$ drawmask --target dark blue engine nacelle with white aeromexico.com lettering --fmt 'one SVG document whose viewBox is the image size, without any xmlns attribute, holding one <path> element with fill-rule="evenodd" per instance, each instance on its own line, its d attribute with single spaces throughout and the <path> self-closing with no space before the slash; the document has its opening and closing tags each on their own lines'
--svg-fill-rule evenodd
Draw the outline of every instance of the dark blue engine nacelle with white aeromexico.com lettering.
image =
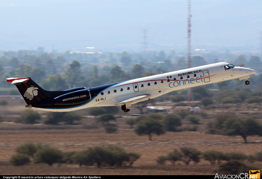
<svg viewBox="0 0 262 179">
<path fill-rule="evenodd" d="M 90 99 L 90 91 L 88 89 L 82 89 L 58 96 L 54 98 L 54 103 L 56 105 L 74 105 L 86 103 Z"/>
</svg>

